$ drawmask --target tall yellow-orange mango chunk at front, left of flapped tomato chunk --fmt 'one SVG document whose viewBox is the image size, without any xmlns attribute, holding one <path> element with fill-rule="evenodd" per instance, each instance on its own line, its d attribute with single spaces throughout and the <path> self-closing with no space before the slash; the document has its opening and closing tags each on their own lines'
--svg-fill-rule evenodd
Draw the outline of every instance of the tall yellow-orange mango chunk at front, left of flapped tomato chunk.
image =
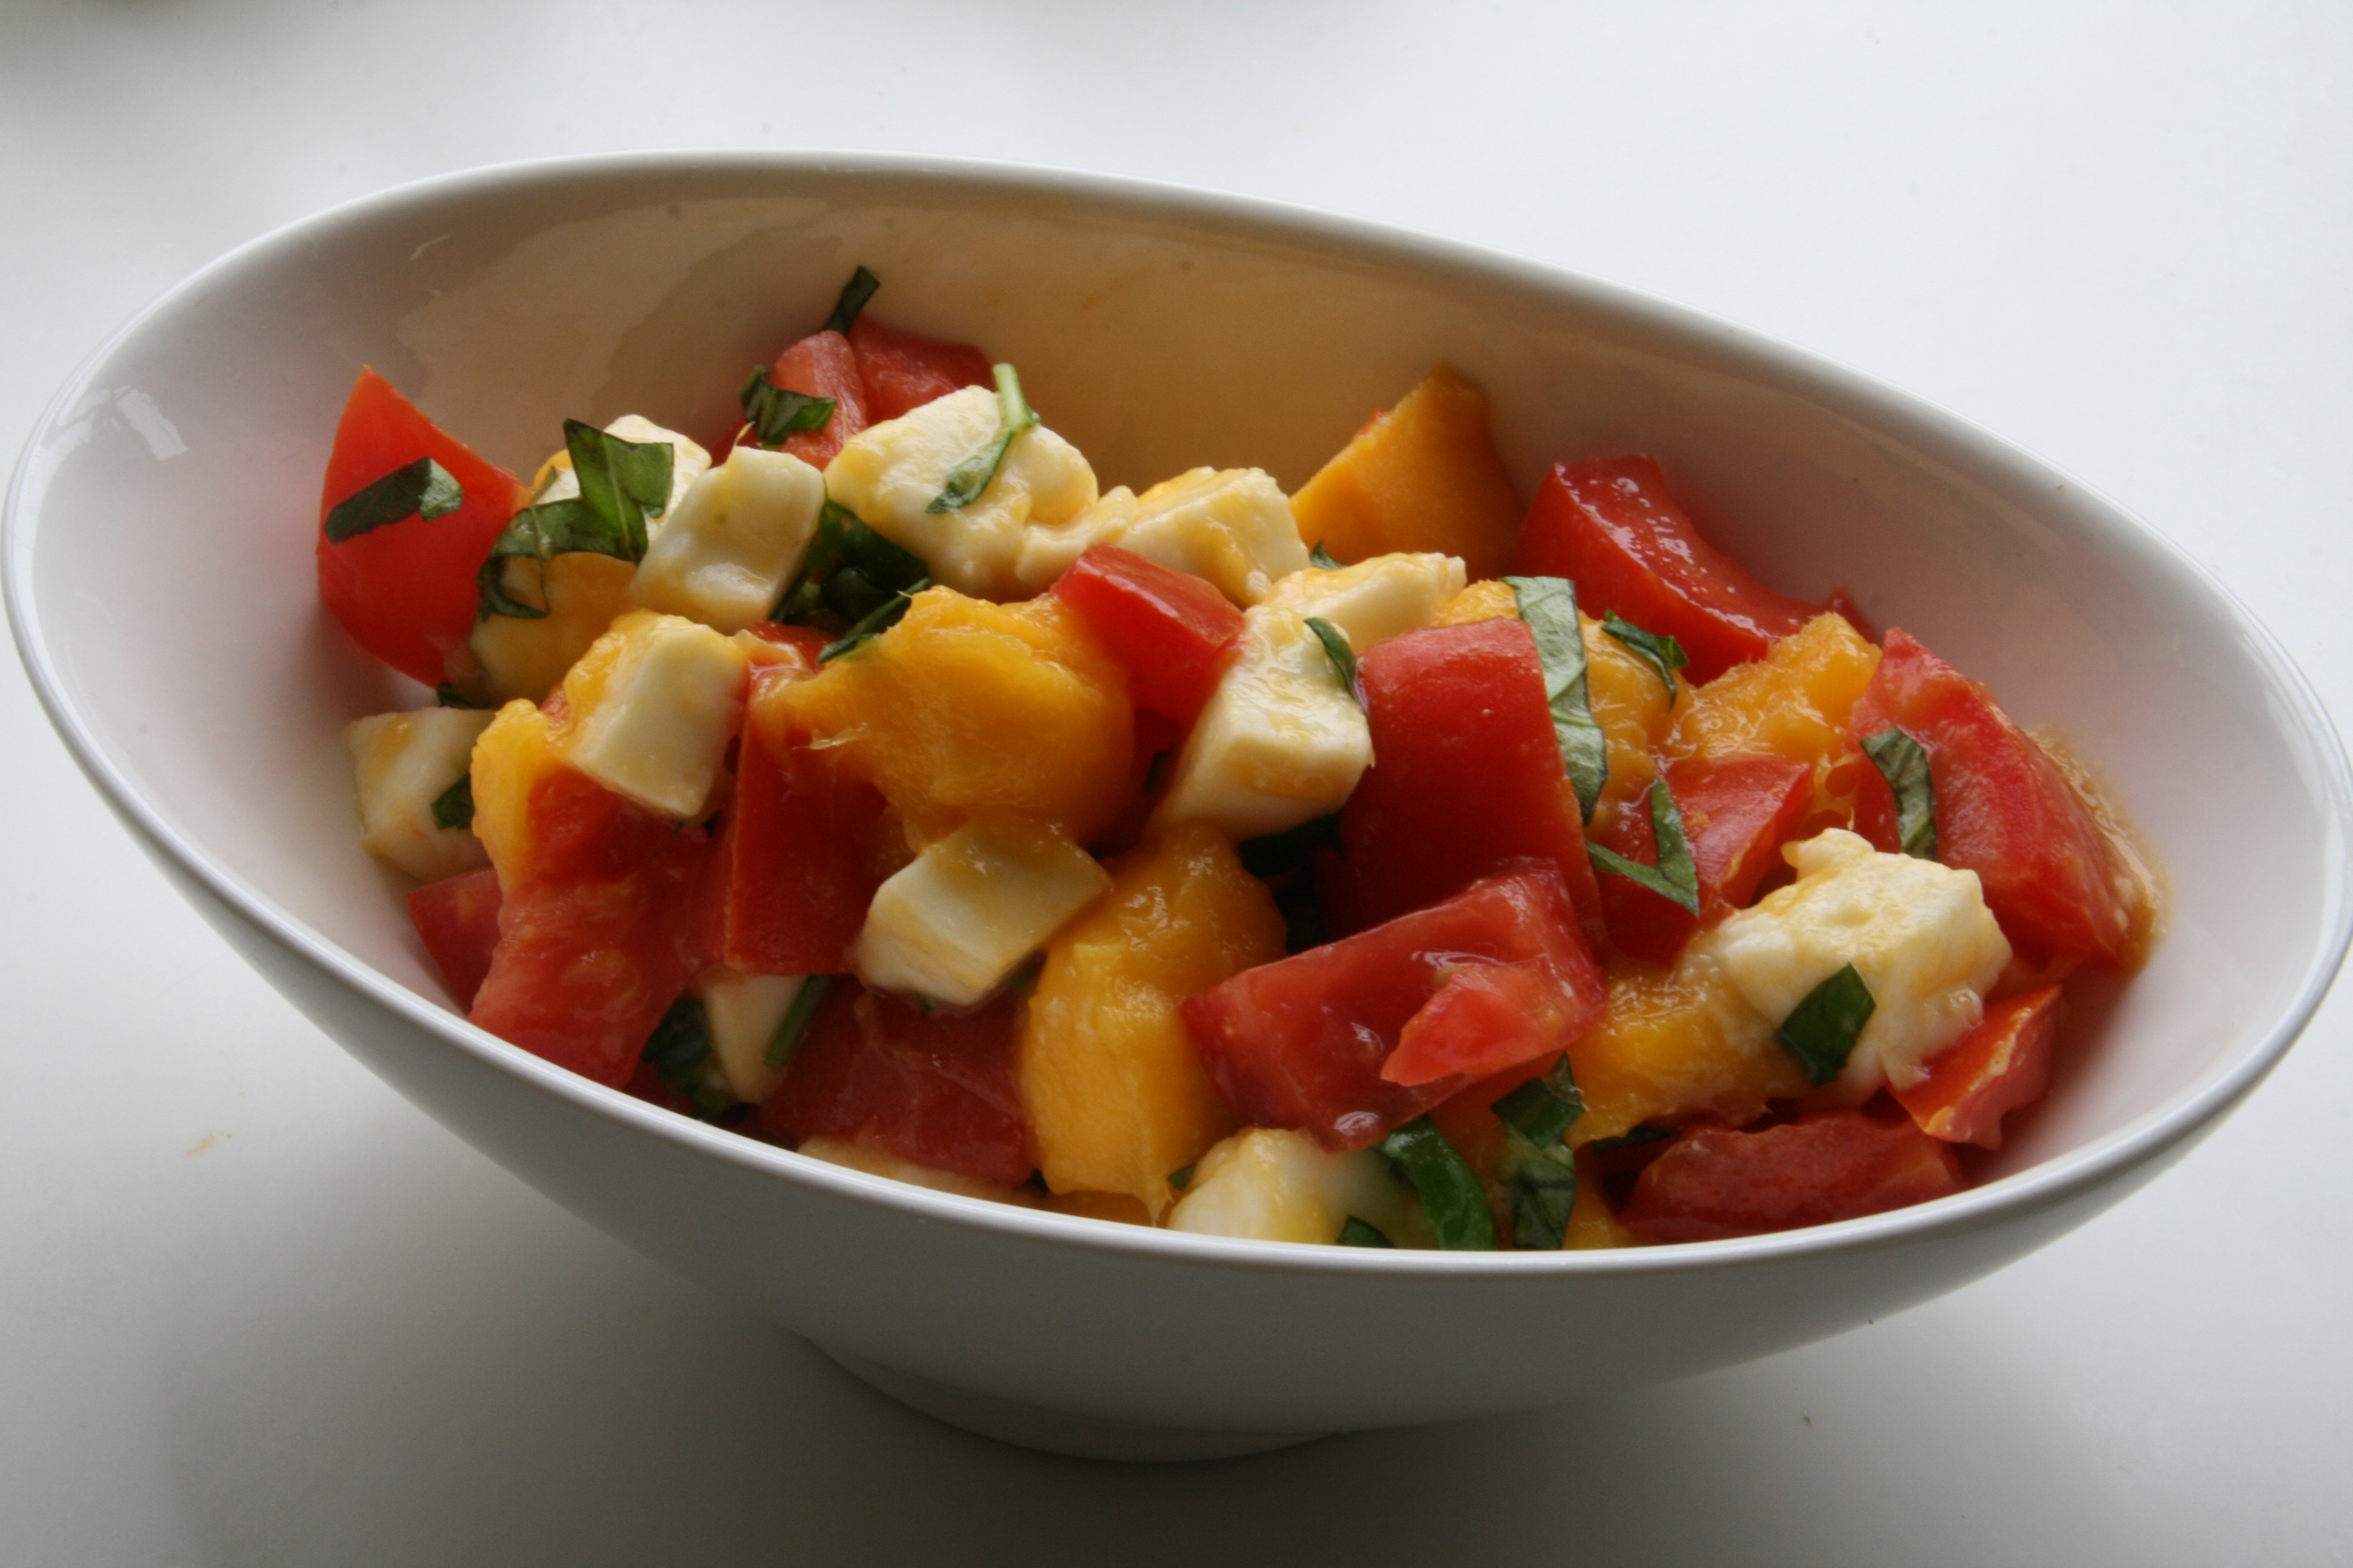
<svg viewBox="0 0 2353 1568">
<path fill-rule="evenodd" d="M 1169 1173 L 1235 1128 L 1176 1004 L 1282 957 L 1282 914 L 1226 835 L 1179 823 L 1113 867 L 1047 945 L 1019 1081 L 1054 1192 L 1129 1194 L 1158 1220 Z"/>
</svg>

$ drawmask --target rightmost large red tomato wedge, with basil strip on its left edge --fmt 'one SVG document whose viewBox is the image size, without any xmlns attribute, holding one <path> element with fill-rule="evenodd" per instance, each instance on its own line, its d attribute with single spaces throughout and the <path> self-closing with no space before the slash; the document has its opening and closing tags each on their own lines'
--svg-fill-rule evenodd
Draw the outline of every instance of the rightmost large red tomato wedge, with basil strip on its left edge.
<svg viewBox="0 0 2353 1568">
<path fill-rule="evenodd" d="M 2087 964 L 2129 954 L 2137 898 L 2125 858 L 1991 691 L 1889 630 L 1852 726 L 1857 741 L 1897 726 L 1927 750 L 1937 858 L 1977 872 L 2014 947 Z M 1897 849 L 1887 780 L 1868 759 L 1857 776 L 1854 830 L 1878 849 Z"/>
</svg>

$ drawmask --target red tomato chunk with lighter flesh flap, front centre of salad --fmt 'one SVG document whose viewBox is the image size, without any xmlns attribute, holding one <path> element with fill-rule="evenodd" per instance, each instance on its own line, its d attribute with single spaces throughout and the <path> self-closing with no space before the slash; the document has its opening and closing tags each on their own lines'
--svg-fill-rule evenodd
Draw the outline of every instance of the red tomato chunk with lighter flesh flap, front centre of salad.
<svg viewBox="0 0 2353 1568">
<path fill-rule="evenodd" d="M 1435 1039 L 1407 1058 L 1414 1072 L 1438 1051 L 1466 1070 L 1398 1084 L 1381 1067 L 1405 1027 L 1461 969 L 1541 961 L 1551 969 L 1555 1037 L 1511 1027 L 1508 1046 L 1482 1048 L 1468 1025 L 1480 1006 L 1459 997 L 1433 1020 Z M 1506 983 L 1508 985 L 1508 983 Z M 1468 987 L 1466 987 L 1468 994 Z M 1299 1126 L 1327 1150 L 1362 1150 L 1388 1128 L 1464 1088 L 1499 1051 L 1553 1056 L 1600 1018 L 1607 987 L 1586 950 L 1577 910 L 1548 863 L 1489 877 L 1454 898 L 1372 931 L 1245 969 L 1181 1004 L 1209 1081 L 1252 1126 Z M 1452 1025 L 1445 1011 L 1464 1006 Z"/>
</svg>

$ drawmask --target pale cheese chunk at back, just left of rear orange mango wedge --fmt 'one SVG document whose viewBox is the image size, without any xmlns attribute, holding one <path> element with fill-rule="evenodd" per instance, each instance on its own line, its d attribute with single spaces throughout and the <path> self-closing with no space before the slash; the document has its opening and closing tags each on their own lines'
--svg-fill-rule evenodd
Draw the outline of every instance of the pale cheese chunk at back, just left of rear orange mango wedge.
<svg viewBox="0 0 2353 1568">
<path fill-rule="evenodd" d="M 1045 592 L 1089 545 L 1191 571 L 1245 609 L 1308 567 L 1289 498 L 1257 468 L 1195 468 L 1141 496 L 1120 487 L 1061 527 L 1031 527 L 1021 585 Z"/>
</svg>

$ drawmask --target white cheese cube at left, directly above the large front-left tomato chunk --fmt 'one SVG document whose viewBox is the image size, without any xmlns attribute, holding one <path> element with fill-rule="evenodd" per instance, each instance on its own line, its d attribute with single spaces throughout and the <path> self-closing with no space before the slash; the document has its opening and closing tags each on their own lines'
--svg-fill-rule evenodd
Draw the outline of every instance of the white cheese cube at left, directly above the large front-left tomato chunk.
<svg viewBox="0 0 2353 1568">
<path fill-rule="evenodd" d="M 647 811 L 699 818 L 744 715 L 746 668 L 708 625 L 621 616 L 565 677 L 567 762 Z"/>
</svg>

